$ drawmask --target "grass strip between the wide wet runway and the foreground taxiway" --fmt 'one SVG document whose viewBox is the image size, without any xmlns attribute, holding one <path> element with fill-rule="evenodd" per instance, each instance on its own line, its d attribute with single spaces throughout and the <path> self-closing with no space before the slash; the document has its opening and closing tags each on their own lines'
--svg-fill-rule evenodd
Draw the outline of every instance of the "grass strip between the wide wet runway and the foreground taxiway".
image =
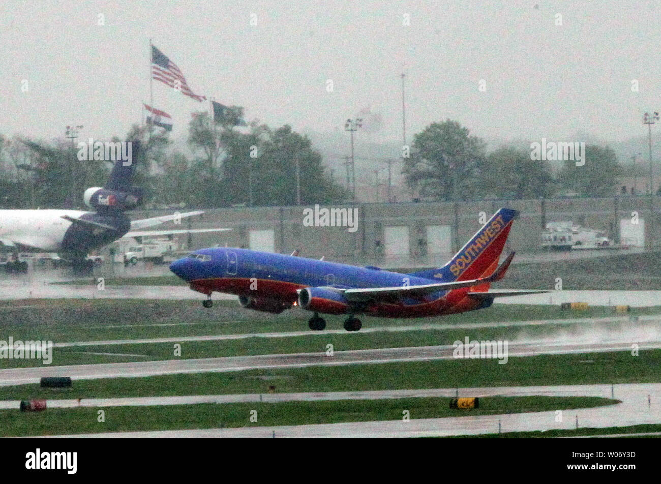
<svg viewBox="0 0 661 484">
<path fill-rule="evenodd" d="M 332 357 L 329 357 L 332 358 Z M 70 389 L 38 383 L 0 387 L 0 399 L 77 399 L 661 382 L 661 350 L 539 355 L 498 360 L 431 360 L 75 380 Z M 461 393 L 461 392 L 460 392 Z M 617 396 L 617 391 L 615 396 Z"/>
</svg>

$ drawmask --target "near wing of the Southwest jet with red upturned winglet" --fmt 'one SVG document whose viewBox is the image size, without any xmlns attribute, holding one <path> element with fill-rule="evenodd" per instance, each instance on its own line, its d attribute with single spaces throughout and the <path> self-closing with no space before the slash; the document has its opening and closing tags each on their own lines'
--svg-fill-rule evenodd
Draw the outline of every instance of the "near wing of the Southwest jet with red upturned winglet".
<svg viewBox="0 0 661 484">
<path fill-rule="evenodd" d="M 508 255 L 507 259 L 498 266 L 493 274 L 479 279 L 420 284 L 418 286 L 395 286 L 392 288 L 345 289 L 342 290 L 342 294 L 351 302 L 366 302 L 381 299 L 392 300 L 393 298 L 419 298 L 428 294 L 434 294 L 434 292 L 478 286 L 479 284 L 485 284 L 485 282 L 494 282 L 502 279 L 512 259 L 514 259 L 514 252 Z"/>
</svg>

